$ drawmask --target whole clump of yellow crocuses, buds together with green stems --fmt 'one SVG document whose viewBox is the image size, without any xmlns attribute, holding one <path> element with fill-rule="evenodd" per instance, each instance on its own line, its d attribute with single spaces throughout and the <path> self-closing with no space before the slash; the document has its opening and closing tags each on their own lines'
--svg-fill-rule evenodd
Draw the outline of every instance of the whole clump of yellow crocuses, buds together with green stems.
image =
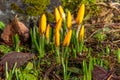
<svg viewBox="0 0 120 80">
<path fill-rule="evenodd" d="M 84 13 L 85 13 L 85 5 L 81 4 L 77 16 L 75 18 L 75 22 L 77 27 L 72 26 L 73 22 L 73 16 L 71 12 L 68 10 L 67 15 L 65 15 L 64 9 L 62 6 L 55 7 L 54 9 L 54 16 L 55 16 L 55 26 L 51 27 L 50 24 L 47 23 L 46 15 L 43 14 L 40 19 L 39 23 L 39 33 L 40 33 L 40 41 L 37 45 L 35 42 L 35 45 L 37 47 L 37 50 L 40 53 L 40 58 L 44 57 L 45 55 L 45 41 L 47 40 L 47 45 L 52 48 L 52 51 L 54 50 L 54 53 L 56 53 L 56 62 L 58 64 L 62 63 L 63 66 L 63 75 L 64 80 L 67 78 L 67 65 L 68 65 L 68 58 L 69 53 L 75 52 L 81 53 L 83 44 L 84 44 L 84 25 L 83 25 L 83 19 L 84 19 Z M 50 36 L 50 32 L 52 28 L 52 36 Z M 76 35 L 77 34 L 77 35 Z M 44 38 L 44 36 L 46 38 Z M 72 39 L 74 38 L 74 39 Z M 36 39 L 36 38 L 35 38 Z M 50 44 L 50 45 L 49 45 Z M 77 46 L 77 47 L 75 47 Z M 40 49 L 39 49 L 40 48 Z M 74 49 L 71 49 L 74 48 Z M 71 50 L 70 50 L 71 49 Z M 77 50 L 76 50 L 77 49 Z M 76 51 L 73 51 L 76 50 Z"/>
</svg>

